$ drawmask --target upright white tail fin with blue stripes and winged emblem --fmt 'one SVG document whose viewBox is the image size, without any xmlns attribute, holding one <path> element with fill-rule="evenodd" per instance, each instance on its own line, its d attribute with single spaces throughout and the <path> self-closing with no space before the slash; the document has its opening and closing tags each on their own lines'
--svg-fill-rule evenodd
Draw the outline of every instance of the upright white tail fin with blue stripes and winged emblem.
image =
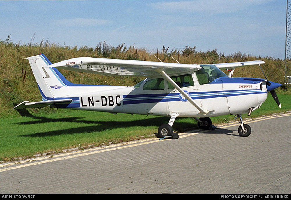
<svg viewBox="0 0 291 200">
<path fill-rule="evenodd" d="M 40 54 L 28 57 L 27 59 L 43 101 L 54 100 L 56 97 L 68 97 L 70 95 L 67 85 L 72 83 L 66 80 L 56 68 L 44 68 L 52 64 L 45 55 Z"/>
</svg>

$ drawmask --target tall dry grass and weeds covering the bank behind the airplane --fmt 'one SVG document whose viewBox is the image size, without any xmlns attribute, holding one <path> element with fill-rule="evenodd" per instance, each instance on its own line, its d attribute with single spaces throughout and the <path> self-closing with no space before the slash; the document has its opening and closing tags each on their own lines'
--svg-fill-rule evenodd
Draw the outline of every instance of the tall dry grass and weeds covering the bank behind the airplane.
<svg viewBox="0 0 291 200">
<path fill-rule="evenodd" d="M 149 52 L 145 48 L 136 48 L 134 44 L 126 47 L 120 44 L 112 46 L 106 41 L 100 42 L 96 47 L 71 47 L 50 43 L 48 40 L 41 40 L 39 43 L 29 44 L 13 43 L 10 36 L 6 40 L 0 40 L 0 117 L 18 116 L 12 108 L 24 100 L 40 101 L 33 73 L 26 59 L 29 56 L 44 53 L 52 62 L 56 63 L 75 57 L 97 57 L 114 58 L 127 60 L 158 61 L 155 56 L 163 62 L 176 62 L 187 64 L 211 64 L 228 63 L 251 60 L 264 60 L 262 65 L 264 72 L 270 81 L 284 83 L 284 60 L 266 57 L 256 57 L 240 52 L 230 55 L 218 53 L 216 49 L 207 52 L 198 52 L 196 47 L 186 46 L 184 49 L 171 49 L 163 46 L 156 52 Z M 138 77 L 110 77 L 97 74 L 86 74 L 61 70 L 61 73 L 72 83 L 99 84 L 99 85 L 135 85 L 142 78 Z M 236 77 L 257 77 L 264 78 L 259 67 L 242 67 L 235 69 Z M 34 110 L 34 112 L 52 112 L 52 109 Z"/>
</svg>

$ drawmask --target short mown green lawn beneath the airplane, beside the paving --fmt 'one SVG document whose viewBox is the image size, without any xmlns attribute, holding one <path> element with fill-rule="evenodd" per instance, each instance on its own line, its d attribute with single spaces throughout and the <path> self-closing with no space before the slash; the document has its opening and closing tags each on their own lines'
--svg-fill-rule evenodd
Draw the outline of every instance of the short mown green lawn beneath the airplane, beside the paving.
<svg viewBox="0 0 291 200">
<path fill-rule="evenodd" d="M 290 92 L 289 92 L 290 93 Z M 278 97 L 282 108 L 278 108 L 271 95 L 261 108 L 253 111 L 251 117 L 291 110 L 290 94 L 280 92 Z M 54 109 L 54 108 L 51 108 Z M 56 110 L 56 109 L 55 109 Z M 0 160 L 31 158 L 35 154 L 50 151 L 61 152 L 73 147 L 99 146 L 126 142 L 141 137 L 152 137 L 160 124 L 168 123 L 168 117 L 79 111 L 56 110 L 56 113 L 30 114 L 24 117 L 0 120 Z M 248 116 L 243 115 L 243 118 Z M 233 120 L 232 115 L 212 117 L 213 124 Z M 192 118 L 177 118 L 173 128 L 184 131 L 198 127 Z"/>
</svg>

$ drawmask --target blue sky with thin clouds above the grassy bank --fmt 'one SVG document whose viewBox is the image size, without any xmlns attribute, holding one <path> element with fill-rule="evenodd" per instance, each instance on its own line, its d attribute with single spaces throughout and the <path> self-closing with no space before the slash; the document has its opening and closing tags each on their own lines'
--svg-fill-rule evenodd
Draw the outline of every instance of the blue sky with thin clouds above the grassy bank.
<svg viewBox="0 0 291 200">
<path fill-rule="evenodd" d="M 285 0 L 0 1 L 0 39 L 285 58 Z M 28 55 L 31 56 L 31 55 Z"/>
</svg>

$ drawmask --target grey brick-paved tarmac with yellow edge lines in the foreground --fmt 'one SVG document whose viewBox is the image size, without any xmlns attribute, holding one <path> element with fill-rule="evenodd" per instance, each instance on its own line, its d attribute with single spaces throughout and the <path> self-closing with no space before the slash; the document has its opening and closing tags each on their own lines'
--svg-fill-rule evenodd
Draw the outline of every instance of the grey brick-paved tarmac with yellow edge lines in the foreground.
<svg viewBox="0 0 291 200">
<path fill-rule="evenodd" d="M 0 193 L 290 193 L 291 114 L 0 165 Z M 10 164 L 10 165 L 8 165 Z"/>
</svg>

